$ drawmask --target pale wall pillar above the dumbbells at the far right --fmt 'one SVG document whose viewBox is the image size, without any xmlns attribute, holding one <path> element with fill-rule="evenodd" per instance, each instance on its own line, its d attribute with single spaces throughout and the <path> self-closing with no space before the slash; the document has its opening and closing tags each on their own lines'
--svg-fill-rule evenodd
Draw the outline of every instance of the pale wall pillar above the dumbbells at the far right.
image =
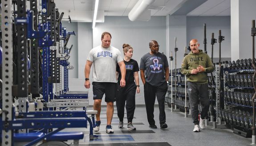
<svg viewBox="0 0 256 146">
<path fill-rule="evenodd" d="M 231 0 L 232 60 L 252 58 L 252 20 L 256 20 L 256 0 Z M 237 17 L 239 19 L 237 19 Z M 237 36 L 239 35 L 239 36 Z"/>
</svg>

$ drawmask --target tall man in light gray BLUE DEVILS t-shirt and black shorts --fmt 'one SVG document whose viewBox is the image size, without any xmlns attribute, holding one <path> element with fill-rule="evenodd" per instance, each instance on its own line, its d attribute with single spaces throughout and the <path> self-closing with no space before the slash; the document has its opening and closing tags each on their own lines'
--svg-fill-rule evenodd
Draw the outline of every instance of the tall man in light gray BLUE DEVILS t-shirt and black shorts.
<svg viewBox="0 0 256 146">
<path fill-rule="evenodd" d="M 85 64 L 85 88 L 90 88 L 89 74 L 93 64 L 93 109 L 98 111 L 96 114 L 96 127 L 93 131 L 98 132 L 100 129 L 100 113 L 102 97 L 105 94 L 105 102 L 107 103 L 107 133 L 114 133 L 111 121 L 114 113 L 114 101 L 117 92 L 116 64 L 118 63 L 122 79 L 120 86 L 125 87 L 126 67 L 123 62 L 121 52 L 110 46 L 111 34 L 109 32 L 102 33 L 102 45 L 94 47 L 87 57 Z"/>
</svg>

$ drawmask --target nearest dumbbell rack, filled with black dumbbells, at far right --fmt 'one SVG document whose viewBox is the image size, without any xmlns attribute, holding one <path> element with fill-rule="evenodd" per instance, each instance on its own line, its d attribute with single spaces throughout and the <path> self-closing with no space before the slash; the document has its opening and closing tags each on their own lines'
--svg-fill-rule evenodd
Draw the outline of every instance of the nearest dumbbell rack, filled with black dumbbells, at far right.
<svg viewBox="0 0 256 146">
<path fill-rule="evenodd" d="M 244 61 L 245 60 L 245 61 Z M 243 62 L 247 62 L 243 63 Z M 251 59 L 241 59 L 229 63 L 224 69 L 225 110 L 220 111 L 221 119 L 233 129 L 235 134 L 252 137 L 252 85 Z"/>
</svg>

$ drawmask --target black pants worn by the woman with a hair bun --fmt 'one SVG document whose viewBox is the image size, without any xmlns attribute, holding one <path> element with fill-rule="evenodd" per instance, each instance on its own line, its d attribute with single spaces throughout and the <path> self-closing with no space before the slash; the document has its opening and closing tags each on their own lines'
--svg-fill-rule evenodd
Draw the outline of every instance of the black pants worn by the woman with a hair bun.
<svg viewBox="0 0 256 146">
<path fill-rule="evenodd" d="M 135 93 L 136 84 L 134 82 L 126 83 L 125 87 L 120 87 L 120 82 L 118 82 L 118 92 L 116 98 L 116 105 L 118 110 L 119 121 L 123 121 L 124 118 L 124 108 L 126 105 L 126 113 L 128 123 L 132 122 L 135 110 Z"/>
</svg>

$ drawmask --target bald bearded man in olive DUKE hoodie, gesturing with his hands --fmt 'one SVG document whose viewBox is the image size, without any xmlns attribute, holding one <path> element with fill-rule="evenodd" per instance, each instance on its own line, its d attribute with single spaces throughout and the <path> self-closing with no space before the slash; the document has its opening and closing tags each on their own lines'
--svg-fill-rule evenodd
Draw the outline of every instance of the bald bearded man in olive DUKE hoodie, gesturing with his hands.
<svg viewBox="0 0 256 146">
<path fill-rule="evenodd" d="M 205 118 L 209 110 L 208 80 L 207 73 L 214 70 L 211 58 L 199 50 L 197 39 L 190 41 L 191 52 L 186 55 L 182 61 L 181 73 L 187 75 L 188 96 L 191 107 L 192 119 L 195 124 L 194 132 L 199 132 L 205 128 Z M 198 121 L 199 97 L 202 104 L 200 121 Z M 200 122 L 200 123 L 199 123 Z"/>
</svg>

